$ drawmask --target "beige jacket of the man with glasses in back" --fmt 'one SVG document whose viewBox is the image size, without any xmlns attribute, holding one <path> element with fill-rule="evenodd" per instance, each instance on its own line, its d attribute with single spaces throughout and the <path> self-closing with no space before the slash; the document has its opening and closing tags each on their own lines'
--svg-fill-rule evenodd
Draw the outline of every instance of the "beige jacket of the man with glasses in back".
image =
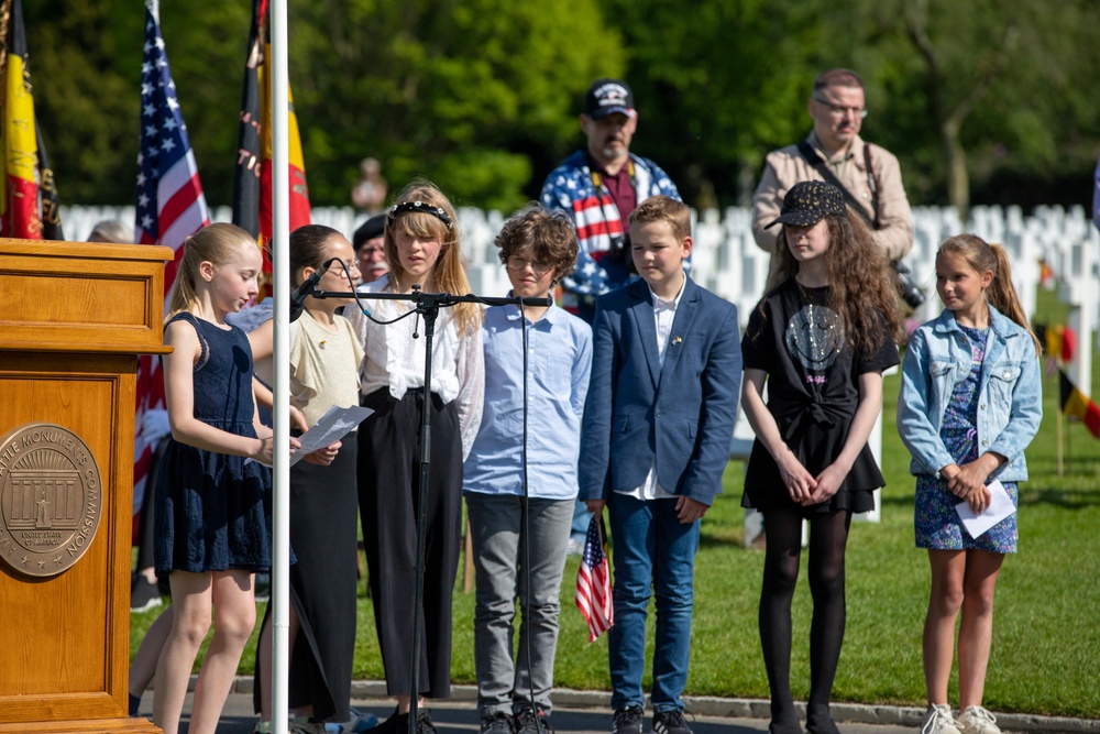
<svg viewBox="0 0 1100 734">
<path fill-rule="evenodd" d="M 812 133 L 807 141 L 824 160 L 825 156 Z M 864 141 L 858 135 L 846 152 L 838 153 L 833 160 L 836 162 L 844 156 L 848 156 L 849 160 L 837 174 L 837 178 L 856 200 L 865 202 L 867 215 L 873 219 L 871 189 L 867 182 L 867 165 L 864 160 Z M 901 183 L 901 166 L 898 165 L 898 158 L 893 154 L 871 143 L 871 167 L 875 169 L 875 180 L 879 187 L 880 226 L 880 229 L 871 231 L 871 237 L 882 247 L 891 262 L 901 260 L 913 248 L 912 211 Z M 769 229 L 765 229 L 765 226 L 779 216 L 787 191 L 799 182 L 821 179 L 821 174 L 803 157 L 798 145 L 788 145 L 768 154 L 760 184 L 752 195 L 752 237 L 761 250 L 776 251 L 780 224 Z"/>
</svg>

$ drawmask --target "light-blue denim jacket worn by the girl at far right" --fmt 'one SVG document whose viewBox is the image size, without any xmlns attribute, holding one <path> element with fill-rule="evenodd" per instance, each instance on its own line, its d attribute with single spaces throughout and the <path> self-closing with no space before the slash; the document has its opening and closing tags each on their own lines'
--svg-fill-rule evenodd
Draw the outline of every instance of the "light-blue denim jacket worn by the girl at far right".
<svg viewBox="0 0 1100 734">
<path fill-rule="evenodd" d="M 994 451 L 1008 461 L 989 479 L 1016 482 L 1027 479 L 1024 449 L 1038 431 L 1043 417 L 1043 383 L 1031 335 L 989 307 L 991 336 L 986 346 L 978 395 L 978 452 Z M 913 474 L 939 475 L 958 463 L 947 451 L 939 428 L 955 385 L 974 364 L 970 347 L 944 310 L 919 328 L 909 341 L 902 363 L 898 399 L 898 431 L 913 461 Z"/>
</svg>

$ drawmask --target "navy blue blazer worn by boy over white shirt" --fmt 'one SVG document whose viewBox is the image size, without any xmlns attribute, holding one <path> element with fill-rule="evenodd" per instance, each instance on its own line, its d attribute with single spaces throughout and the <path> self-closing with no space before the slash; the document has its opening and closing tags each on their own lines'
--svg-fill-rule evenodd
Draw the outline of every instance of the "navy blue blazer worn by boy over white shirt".
<svg viewBox="0 0 1100 734">
<path fill-rule="evenodd" d="M 689 277 L 662 368 L 651 298 L 639 280 L 596 300 L 579 496 L 635 490 L 656 457 L 667 492 L 710 505 L 722 492 L 740 395 L 737 307 Z"/>
</svg>

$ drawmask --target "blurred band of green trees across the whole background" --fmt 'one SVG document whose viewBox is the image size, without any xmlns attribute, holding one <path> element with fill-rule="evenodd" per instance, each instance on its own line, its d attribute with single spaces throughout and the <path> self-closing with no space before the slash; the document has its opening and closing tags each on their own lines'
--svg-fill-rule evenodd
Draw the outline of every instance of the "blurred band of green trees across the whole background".
<svg viewBox="0 0 1100 734">
<path fill-rule="evenodd" d="M 161 25 L 209 201 L 227 204 L 251 0 L 165 0 Z M 24 3 L 36 113 L 64 204 L 129 204 L 136 0 Z M 509 210 L 583 144 L 588 83 L 622 76 L 632 145 L 690 204 L 746 200 L 810 129 L 813 77 L 855 68 L 864 135 L 914 204 L 1086 204 L 1100 153 L 1093 0 L 289 0 L 290 81 L 315 206 L 364 156 L 460 205 Z"/>
</svg>

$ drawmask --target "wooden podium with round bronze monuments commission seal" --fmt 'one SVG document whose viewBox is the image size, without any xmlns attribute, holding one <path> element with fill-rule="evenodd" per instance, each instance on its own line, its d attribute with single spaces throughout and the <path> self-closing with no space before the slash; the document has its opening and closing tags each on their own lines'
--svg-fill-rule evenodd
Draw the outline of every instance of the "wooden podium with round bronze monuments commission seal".
<svg viewBox="0 0 1100 734">
<path fill-rule="evenodd" d="M 138 355 L 168 248 L 0 239 L 0 733 L 128 716 Z"/>
</svg>

